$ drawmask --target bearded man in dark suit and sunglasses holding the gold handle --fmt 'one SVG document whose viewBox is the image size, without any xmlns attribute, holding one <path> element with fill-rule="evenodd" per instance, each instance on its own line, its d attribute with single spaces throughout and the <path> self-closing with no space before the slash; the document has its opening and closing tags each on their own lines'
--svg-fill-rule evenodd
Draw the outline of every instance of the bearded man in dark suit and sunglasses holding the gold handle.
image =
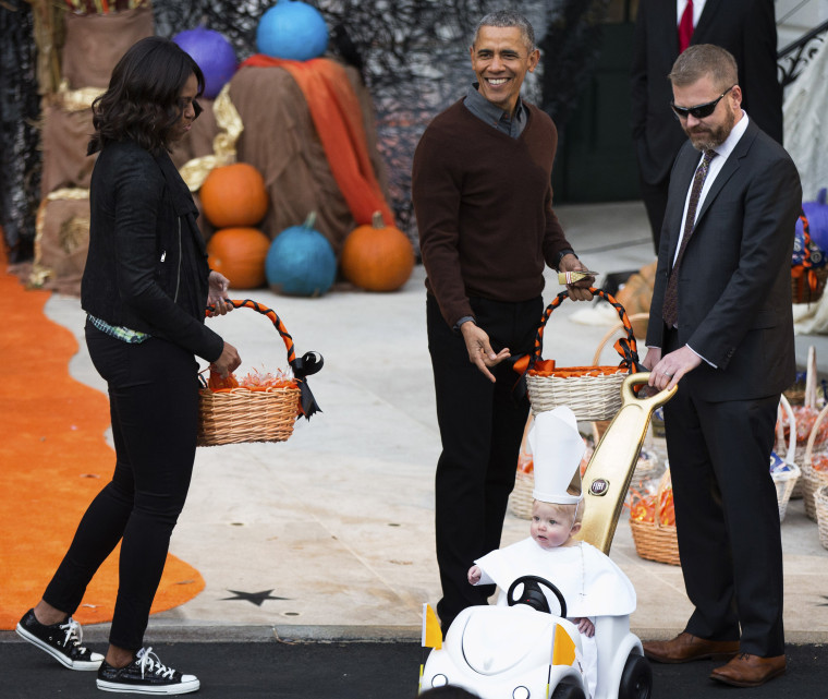
<svg viewBox="0 0 828 699">
<path fill-rule="evenodd" d="M 679 384 L 665 427 L 695 608 L 684 632 L 644 652 L 668 663 L 732 658 L 711 677 L 753 687 L 786 668 L 768 463 L 795 372 L 790 266 L 802 188 L 789 155 L 742 110 L 728 51 L 690 47 L 670 81 L 690 141 L 670 176 L 644 365 L 653 386 Z"/>
</svg>

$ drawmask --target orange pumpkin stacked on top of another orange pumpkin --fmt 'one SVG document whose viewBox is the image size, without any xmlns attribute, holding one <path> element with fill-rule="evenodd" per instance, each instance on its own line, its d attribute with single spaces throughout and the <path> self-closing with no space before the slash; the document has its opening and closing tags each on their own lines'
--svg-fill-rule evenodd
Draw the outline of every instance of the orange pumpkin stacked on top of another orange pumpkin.
<svg viewBox="0 0 828 699">
<path fill-rule="evenodd" d="M 216 228 L 255 226 L 267 214 L 265 179 L 246 162 L 210 171 L 202 184 L 202 207 Z"/>
</svg>

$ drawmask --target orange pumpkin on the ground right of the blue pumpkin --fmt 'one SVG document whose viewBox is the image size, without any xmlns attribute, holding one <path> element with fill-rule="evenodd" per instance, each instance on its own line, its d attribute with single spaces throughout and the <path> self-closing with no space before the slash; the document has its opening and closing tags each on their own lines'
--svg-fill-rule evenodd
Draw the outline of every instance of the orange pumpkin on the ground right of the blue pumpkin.
<svg viewBox="0 0 828 699">
<path fill-rule="evenodd" d="M 376 212 L 370 226 L 358 226 L 342 245 L 340 268 L 345 279 L 366 291 L 394 291 L 414 269 L 414 250 L 399 228 L 386 226 Z"/>
</svg>

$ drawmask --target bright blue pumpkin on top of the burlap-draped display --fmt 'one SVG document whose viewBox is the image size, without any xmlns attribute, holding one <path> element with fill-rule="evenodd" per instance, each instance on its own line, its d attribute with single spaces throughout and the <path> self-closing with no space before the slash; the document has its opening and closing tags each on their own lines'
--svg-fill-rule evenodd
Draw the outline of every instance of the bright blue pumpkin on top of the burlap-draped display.
<svg viewBox="0 0 828 699">
<path fill-rule="evenodd" d="M 256 48 L 272 58 L 307 61 L 328 48 L 328 26 L 316 8 L 301 0 L 278 0 L 259 20 Z"/>
</svg>

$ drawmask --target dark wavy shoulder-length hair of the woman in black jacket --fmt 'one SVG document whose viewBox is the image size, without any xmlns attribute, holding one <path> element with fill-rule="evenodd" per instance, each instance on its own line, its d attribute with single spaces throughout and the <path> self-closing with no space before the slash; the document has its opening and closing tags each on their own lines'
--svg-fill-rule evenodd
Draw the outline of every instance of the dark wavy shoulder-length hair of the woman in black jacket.
<svg viewBox="0 0 828 699">
<path fill-rule="evenodd" d="M 181 92 L 191 75 L 204 92 L 204 74 L 178 44 L 149 36 L 133 44 L 112 70 L 107 92 L 92 106 L 95 133 L 87 155 L 109 141 L 135 141 L 157 152 L 170 148 L 170 132 L 181 118 Z M 200 112 L 194 104 L 196 117 Z"/>
</svg>

